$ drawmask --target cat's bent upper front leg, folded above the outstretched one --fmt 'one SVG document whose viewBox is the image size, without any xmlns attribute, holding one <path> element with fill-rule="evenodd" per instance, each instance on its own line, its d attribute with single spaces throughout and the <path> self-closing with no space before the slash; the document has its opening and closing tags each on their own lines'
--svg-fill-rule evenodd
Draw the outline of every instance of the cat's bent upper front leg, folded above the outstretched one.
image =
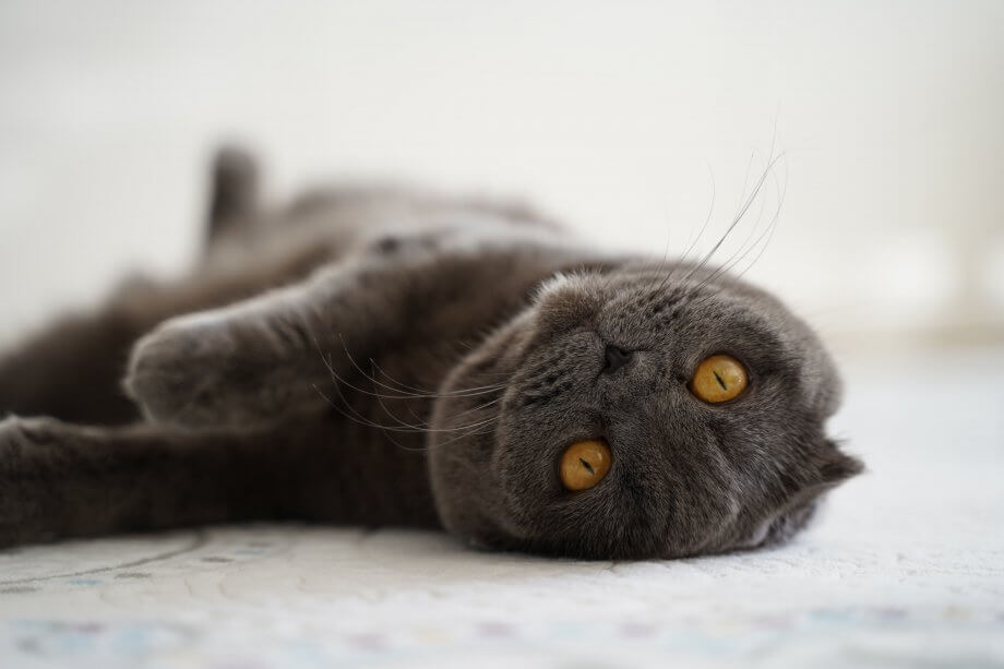
<svg viewBox="0 0 1004 669">
<path fill-rule="evenodd" d="M 124 385 L 154 421 L 242 427 L 326 405 L 398 336 L 416 273 L 368 256 L 223 309 L 171 319 L 133 349 Z M 414 304 L 413 304 L 414 307 Z"/>
</svg>

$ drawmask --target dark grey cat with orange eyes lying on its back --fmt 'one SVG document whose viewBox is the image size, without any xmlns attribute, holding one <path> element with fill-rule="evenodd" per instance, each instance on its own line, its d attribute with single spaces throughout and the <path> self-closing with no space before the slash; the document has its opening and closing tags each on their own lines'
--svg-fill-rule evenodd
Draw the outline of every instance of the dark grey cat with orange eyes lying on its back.
<svg viewBox="0 0 1004 669">
<path fill-rule="evenodd" d="M 707 256 L 404 187 L 268 207 L 258 174 L 218 154 L 187 276 L 0 358 L 0 546 L 299 519 L 681 558 L 782 542 L 862 469 L 818 337 Z"/>
</svg>

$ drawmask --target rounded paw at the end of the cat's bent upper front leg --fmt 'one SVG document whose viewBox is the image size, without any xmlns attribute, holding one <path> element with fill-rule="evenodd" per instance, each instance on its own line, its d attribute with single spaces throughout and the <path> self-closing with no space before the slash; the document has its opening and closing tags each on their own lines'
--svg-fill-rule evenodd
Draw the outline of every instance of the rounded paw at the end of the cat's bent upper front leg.
<svg viewBox="0 0 1004 669">
<path fill-rule="evenodd" d="M 216 420 L 228 358 L 217 326 L 168 321 L 133 347 L 123 385 L 143 414 L 164 423 L 201 426 Z"/>
</svg>

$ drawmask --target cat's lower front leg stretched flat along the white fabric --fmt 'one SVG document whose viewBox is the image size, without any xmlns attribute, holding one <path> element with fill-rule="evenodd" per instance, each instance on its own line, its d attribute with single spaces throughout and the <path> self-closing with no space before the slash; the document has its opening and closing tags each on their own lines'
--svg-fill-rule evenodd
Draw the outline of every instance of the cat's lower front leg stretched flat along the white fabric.
<svg viewBox="0 0 1004 669">
<path fill-rule="evenodd" d="M 260 431 L 0 420 L 0 547 L 283 518 L 434 526 L 423 453 L 331 417 Z"/>
</svg>

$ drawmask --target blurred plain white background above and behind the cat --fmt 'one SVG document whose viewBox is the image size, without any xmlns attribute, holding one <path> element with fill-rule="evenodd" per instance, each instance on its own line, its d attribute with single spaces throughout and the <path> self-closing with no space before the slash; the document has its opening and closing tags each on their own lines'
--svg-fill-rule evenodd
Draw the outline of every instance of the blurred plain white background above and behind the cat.
<svg viewBox="0 0 1004 669">
<path fill-rule="evenodd" d="M 276 198 L 339 176 L 514 194 L 659 255 L 713 188 L 714 243 L 776 140 L 786 196 L 748 277 L 838 348 L 1004 342 L 996 0 L 3 0 L 4 334 L 181 271 L 225 140 Z"/>
</svg>

